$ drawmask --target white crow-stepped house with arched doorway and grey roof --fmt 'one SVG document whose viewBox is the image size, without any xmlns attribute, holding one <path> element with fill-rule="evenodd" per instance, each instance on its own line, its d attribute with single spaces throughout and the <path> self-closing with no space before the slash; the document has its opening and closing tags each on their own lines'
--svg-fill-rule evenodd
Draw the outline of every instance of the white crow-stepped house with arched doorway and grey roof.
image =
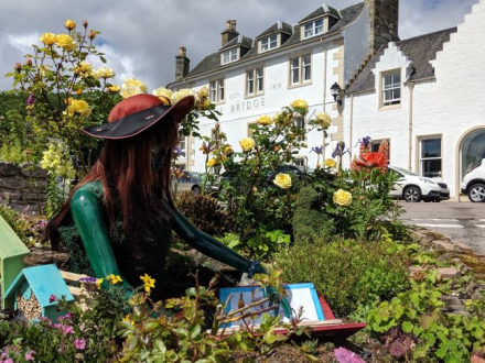
<svg viewBox="0 0 485 363">
<path fill-rule="evenodd" d="M 344 141 L 390 143 L 390 164 L 442 177 L 451 198 L 485 157 L 485 0 L 457 28 L 391 42 L 346 90 Z"/>
</svg>

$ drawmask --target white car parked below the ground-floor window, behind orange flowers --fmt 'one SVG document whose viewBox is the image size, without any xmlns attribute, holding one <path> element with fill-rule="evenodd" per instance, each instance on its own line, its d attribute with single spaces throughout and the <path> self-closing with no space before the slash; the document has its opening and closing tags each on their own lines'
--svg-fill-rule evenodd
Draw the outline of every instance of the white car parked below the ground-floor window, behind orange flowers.
<svg viewBox="0 0 485 363">
<path fill-rule="evenodd" d="M 389 166 L 389 170 L 400 176 L 390 191 L 394 198 L 411 202 L 450 199 L 450 189 L 445 183 L 420 176 L 402 167 Z"/>
</svg>

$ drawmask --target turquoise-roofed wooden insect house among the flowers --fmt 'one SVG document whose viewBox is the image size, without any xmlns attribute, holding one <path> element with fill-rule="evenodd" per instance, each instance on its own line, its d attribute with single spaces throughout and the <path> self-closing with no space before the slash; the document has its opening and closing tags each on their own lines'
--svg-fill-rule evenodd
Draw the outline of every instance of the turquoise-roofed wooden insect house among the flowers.
<svg viewBox="0 0 485 363">
<path fill-rule="evenodd" d="M 55 296 L 66 301 L 74 300 L 61 272 L 55 265 L 42 265 L 23 268 L 6 292 L 6 298 L 13 299 L 13 309 L 25 320 L 47 317 L 56 321 L 66 311 L 57 311 L 58 307 L 51 299 Z"/>
</svg>

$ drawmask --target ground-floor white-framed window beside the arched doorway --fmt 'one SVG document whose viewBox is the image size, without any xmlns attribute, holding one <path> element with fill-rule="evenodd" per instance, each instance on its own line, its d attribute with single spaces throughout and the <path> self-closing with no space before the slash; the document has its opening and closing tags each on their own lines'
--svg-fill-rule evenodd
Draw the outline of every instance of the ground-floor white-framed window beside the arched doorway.
<svg viewBox="0 0 485 363">
<path fill-rule="evenodd" d="M 419 141 L 419 174 L 430 178 L 441 177 L 441 136 L 421 138 Z"/>
</svg>

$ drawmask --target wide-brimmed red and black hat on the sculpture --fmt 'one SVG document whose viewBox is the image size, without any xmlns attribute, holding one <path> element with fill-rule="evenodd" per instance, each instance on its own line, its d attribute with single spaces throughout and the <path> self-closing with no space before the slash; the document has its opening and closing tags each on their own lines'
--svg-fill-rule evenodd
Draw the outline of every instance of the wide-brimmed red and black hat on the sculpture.
<svg viewBox="0 0 485 363">
<path fill-rule="evenodd" d="M 112 108 L 109 113 L 109 123 L 89 127 L 83 129 L 83 132 L 97 139 L 128 139 L 138 135 L 169 116 L 176 122 L 182 121 L 194 103 L 194 96 L 185 96 L 176 103 L 165 106 L 157 96 L 134 95 Z"/>
</svg>

